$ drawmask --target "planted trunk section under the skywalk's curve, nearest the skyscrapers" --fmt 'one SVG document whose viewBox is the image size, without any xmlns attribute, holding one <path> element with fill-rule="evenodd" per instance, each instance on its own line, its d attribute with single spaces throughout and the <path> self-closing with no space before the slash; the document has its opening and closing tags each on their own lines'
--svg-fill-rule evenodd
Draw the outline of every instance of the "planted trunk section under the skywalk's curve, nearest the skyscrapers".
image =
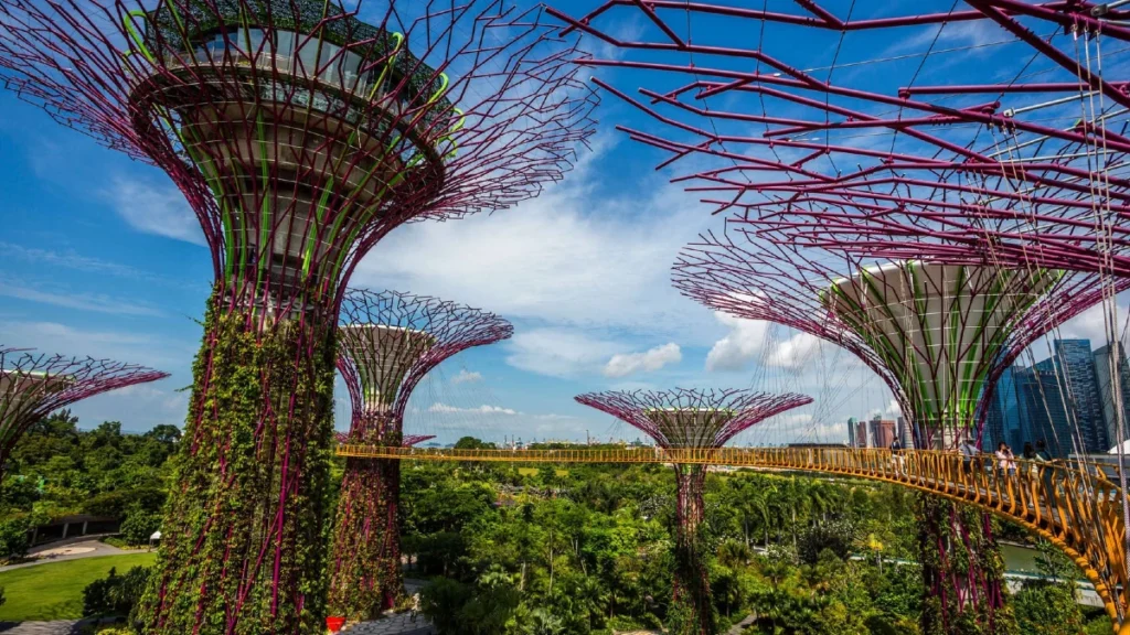
<svg viewBox="0 0 1130 635">
<path fill-rule="evenodd" d="M 990 516 L 928 494 L 916 496 L 915 507 L 923 635 L 1016 635 Z"/>
</svg>

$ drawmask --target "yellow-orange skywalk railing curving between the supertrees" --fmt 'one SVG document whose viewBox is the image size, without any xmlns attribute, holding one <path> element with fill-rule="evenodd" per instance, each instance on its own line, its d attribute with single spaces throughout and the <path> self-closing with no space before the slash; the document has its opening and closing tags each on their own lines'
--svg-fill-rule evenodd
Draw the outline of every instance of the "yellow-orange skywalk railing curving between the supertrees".
<svg viewBox="0 0 1130 635">
<path fill-rule="evenodd" d="M 991 454 L 850 447 L 616 447 L 462 450 L 339 445 L 353 459 L 516 463 L 692 463 L 801 470 L 881 480 L 975 505 L 1050 540 L 1095 585 L 1121 633 L 1130 635 L 1122 494 L 1101 469 L 1079 462 Z"/>
</svg>

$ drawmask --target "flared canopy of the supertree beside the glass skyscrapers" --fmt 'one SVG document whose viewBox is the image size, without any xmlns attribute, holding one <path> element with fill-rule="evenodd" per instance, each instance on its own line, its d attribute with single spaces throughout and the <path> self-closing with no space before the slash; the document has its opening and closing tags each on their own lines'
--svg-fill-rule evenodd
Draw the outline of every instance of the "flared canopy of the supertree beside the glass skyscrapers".
<svg viewBox="0 0 1130 635">
<path fill-rule="evenodd" d="M 707 233 L 684 247 L 672 270 L 675 287 L 715 311 L 784 324 L 849 350 L 890 388 L 928 447 L 956 446 L 971 432 L 980 438 L 1001 373 L 1038 338 L 1101 302 L 1106 289 L 1095 273 L 1027 268 L 948 273 L 946 286 L 903 273 L 892 284 L 864 270 L 905 262 L 790 245 L 772 230 L 747 228 L 731 220 L 722 234 Z M 844 289 L 863 306 L 829 301 Z M 883 318 L 883 298 L 903 294 L 910 297 L 898 298 L 901 314 Z M 994 311 L 999 318 L 991 318 Z M 923 332 L 935 334 L 923 339 Z M 931 337 L 956 348 L 939 355 Z M 923 383 L 945 388 L 931 394 Z"/>
</svg>

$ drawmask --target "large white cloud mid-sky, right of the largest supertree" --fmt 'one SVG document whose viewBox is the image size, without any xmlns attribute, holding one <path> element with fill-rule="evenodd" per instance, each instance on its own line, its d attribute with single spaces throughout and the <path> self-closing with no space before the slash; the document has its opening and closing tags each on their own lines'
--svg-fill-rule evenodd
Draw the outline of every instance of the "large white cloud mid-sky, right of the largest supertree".
<svg viewBox="0 0 1130 635">
<path fill-rule="evenodd" d="M 669 270 L 714 219 L 658 179 L 643 199 L 591 189 L 608 181 L 581 167 L 516 209 L 405 226 L 365 256 L 350 284 L 562 327 L 702 338 L 707 313 L 671 288 Z"/>
</svg>

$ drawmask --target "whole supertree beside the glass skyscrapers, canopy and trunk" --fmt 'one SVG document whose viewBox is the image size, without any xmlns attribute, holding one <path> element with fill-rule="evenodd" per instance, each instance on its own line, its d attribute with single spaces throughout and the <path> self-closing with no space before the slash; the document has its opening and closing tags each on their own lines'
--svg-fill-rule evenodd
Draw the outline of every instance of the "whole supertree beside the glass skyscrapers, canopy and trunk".
<svg viewBox="0 0 1130 635">
<path fill-rule="evenodd" d="M 746 223 L 704 235 L 680 253 L 675 286 L 716 311 L 851 351 L 890 388 L 925 449 L 980 442 L 1001 373 L 1104 293 L 1103 278 L 1089 273 L 866 261 L 771 238 Z M 988 516 L 925 495 L 919 504 L 924 632 L 958 633 L 971 623 L 982 633 L 1010 632 Z"/>
</svg>

